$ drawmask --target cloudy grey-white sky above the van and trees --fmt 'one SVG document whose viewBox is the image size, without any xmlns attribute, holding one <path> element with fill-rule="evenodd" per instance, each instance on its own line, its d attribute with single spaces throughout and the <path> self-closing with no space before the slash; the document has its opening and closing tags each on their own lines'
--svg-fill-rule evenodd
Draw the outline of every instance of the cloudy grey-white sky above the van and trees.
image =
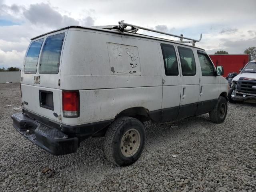
<svg viewBox="0 0 256 192">
<path fill-rule="evenodd" d="M 208 54 L 256 46 L 256 0 L 0 0 L 0 68 L 22 67 L 30 38 L 118 21 L 202 40 Z M 139 30 L 139 33 L 174 39 Z"/>
</svg>

